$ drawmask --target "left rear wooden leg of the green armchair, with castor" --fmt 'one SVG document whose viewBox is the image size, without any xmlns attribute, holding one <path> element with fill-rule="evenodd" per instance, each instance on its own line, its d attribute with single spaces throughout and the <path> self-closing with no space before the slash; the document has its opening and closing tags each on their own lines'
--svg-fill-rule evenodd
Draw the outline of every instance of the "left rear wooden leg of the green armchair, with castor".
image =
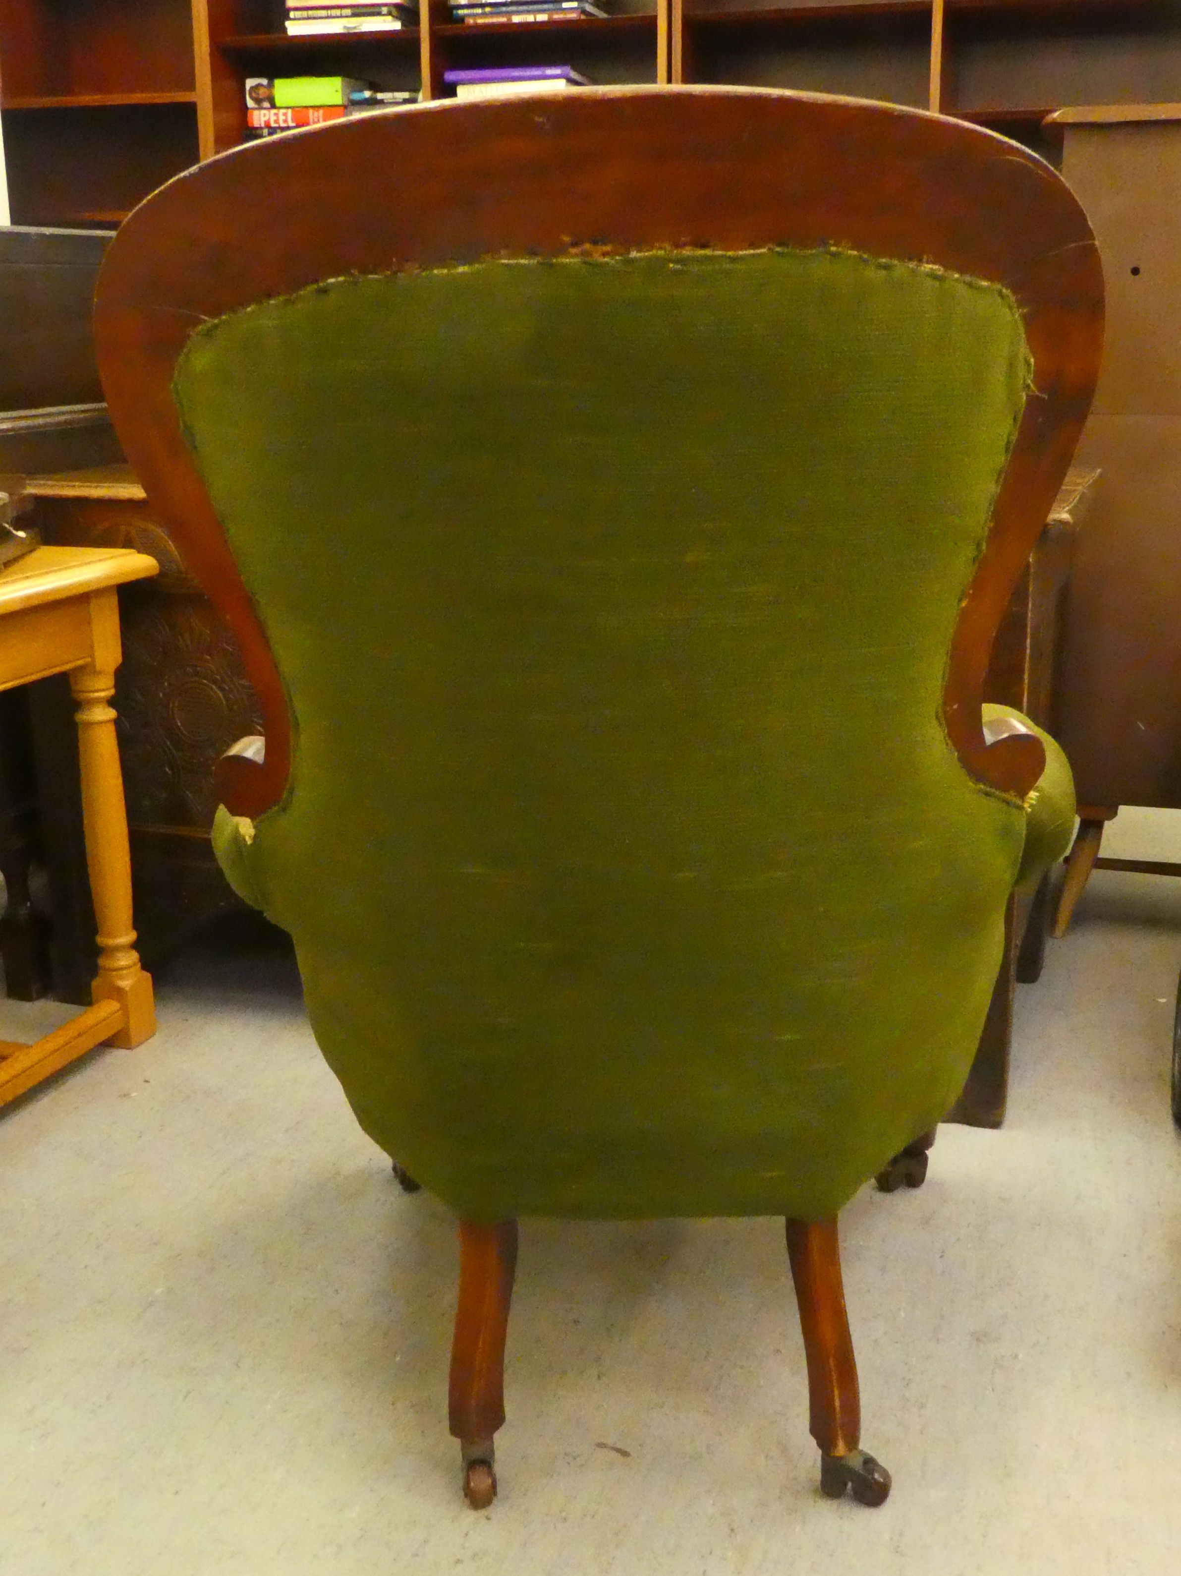
<svg viewBox="0 0 1181 1576">
<path fill-rule="evenodd" d="M 516 1221 L 460 1221 L 460 1299 L 447 1409 L 472 1510 L 496 1499 L 493 1434 L 504 1423 L 504 1340 L 516 1269 Z"/>
</svg>

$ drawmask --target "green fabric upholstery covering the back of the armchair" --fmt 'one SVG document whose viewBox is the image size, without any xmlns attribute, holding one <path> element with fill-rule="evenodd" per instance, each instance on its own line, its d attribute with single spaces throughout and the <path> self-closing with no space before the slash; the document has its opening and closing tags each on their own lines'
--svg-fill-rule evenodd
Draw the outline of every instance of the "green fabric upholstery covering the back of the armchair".
<svg viewBox="0 0 1181 1576">
<path fill-rule="evenodd" d="M 216 843 L 465 1217 L 828 1217 L 948 1110 L 1028 838 L 940 697 L 1027 377 L 1005 292 L 842 252 L 339 279 L 194 334 L 296 730 Z"/>
</svg>

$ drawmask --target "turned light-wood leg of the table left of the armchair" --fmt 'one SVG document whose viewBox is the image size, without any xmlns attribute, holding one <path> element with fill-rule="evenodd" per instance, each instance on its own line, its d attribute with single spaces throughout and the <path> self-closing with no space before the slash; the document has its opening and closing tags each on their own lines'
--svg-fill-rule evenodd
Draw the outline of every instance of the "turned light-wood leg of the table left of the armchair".
<svg viewBox="0 0 1181 1576">
<path fill-rule="evenodd" d="M 98 976 L 94 1002 L 113 1001 L 124 1021 L 110 1045 L 124 1050 L 156 1032 L 151 977 L 140 968 L 131 922 L 131 849 L 123 804 L 123 774 L 115 738 L 115 668 L 120 660 L 118 604 L 113 589 L 94 599 L 94 659 L 69 675 L 79 730 L 82 774 L 82 823 L 87 834 L 87 868 L 98 920 Z"/>
</svg>

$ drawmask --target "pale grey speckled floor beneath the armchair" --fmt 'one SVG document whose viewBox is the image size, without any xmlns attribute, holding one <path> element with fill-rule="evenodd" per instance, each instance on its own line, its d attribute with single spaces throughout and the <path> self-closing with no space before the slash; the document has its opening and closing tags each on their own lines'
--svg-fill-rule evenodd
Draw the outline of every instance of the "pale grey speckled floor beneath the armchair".
<svg viewBox="0 0 1181 1576">
<path fill-rule="evenodd" d="M 1006 1127 L 842 1217 L 882 1510 L 817 1494 L 776 1221 L 526 1221 L 474 1515 L 447 1212 L 353 1124 L 287 955 L 191 952 L 153 1042 L 0 1117 L 0 1573 L 1164 1576 L 1179 966 L 1181 883 L 1096 876 L 1020 991 Z"/>
</svg>

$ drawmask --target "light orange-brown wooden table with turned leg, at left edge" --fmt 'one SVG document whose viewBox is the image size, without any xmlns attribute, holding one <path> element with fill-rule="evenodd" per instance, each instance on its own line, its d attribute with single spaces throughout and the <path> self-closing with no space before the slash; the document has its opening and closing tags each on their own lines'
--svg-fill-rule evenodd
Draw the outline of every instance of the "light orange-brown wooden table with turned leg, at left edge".
<svg viewBox="0 0 1181 1576">
<path fill-rule="evenodd" d="M 0 690 L 66 673 L 77 701 L 87 867 L 98 919 L 91 1005 L 35 1045 L 0 1040 L 0 1105 L 102 1042 L 131 1048 L 156 1031 L 151 979 L 131 920 L 131 859 L 115 712 L 115 588 L 157 572 L 124 548 L 38 547 L 0 572 Z"/>
</svg>

